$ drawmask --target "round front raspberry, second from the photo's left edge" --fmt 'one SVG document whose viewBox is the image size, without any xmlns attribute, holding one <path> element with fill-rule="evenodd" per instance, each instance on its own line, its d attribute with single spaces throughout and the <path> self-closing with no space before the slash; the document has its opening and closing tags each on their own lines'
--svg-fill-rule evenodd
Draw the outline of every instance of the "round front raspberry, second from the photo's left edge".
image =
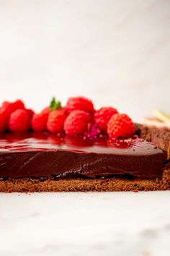
<svg viewBox="0 0 170 256">
<path fill-rule="evenodd" d="M 25 132 L 30 129 L 30 116 L 24 109 L 17 109 L 9 116 L 8 123 L 11 132 Z"/>
</svg>

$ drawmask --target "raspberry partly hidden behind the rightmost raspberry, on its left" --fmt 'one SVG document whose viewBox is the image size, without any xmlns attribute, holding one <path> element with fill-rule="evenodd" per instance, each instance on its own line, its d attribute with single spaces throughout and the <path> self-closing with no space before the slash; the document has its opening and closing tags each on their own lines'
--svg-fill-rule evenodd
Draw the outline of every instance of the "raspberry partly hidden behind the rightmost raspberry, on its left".
<svg viewBox="0 0 170 256">
<path fill-rule="evenodd" d="M 107 123 L 109 119 L 117 113 L 117 109 L 112 107 L 100 108 L 94 114 L 94 122 L 102 132 L 107 132 Z"/>
</svg>

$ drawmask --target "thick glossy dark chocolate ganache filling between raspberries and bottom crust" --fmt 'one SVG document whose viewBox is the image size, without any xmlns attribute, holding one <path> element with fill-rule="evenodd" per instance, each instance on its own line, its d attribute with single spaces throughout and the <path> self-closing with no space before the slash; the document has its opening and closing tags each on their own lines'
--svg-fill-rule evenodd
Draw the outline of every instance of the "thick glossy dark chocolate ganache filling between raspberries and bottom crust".
<svg viewBox="0 0 170 256">
<path fill-rule="evenodd" d="M 161 178 L 167 155 L 138 137 L 126 140 L 54 135 L 4 134 L 0 137 L 0 177 L 73 178 L 125 176 Z"/>
</svg>

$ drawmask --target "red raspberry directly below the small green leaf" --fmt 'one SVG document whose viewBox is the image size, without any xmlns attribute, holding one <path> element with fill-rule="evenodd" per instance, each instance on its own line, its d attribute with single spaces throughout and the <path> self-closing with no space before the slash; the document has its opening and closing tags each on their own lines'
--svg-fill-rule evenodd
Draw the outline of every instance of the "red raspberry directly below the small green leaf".
<svg viewBox="0 0 170 256">
<path fill-rule="evenodd" d="M 65 109 L 58 108 L 50 112 L 48 116 L 48 131 L 52 133 L 61 133 L 63 132 L 64 122 L 66 120 L 67 114 Z"/>
</svg>

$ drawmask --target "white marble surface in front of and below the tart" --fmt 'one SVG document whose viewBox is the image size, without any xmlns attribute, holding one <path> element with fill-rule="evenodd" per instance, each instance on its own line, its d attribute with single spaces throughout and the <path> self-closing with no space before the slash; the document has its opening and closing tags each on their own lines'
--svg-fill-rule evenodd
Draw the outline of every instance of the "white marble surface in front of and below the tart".
<svg viewBox="0 0 170 256">
<path fill-rule="evenodd" d="M 170 192 L 0 194 L 2 256 L 169 256 Z"/>
</svg>

